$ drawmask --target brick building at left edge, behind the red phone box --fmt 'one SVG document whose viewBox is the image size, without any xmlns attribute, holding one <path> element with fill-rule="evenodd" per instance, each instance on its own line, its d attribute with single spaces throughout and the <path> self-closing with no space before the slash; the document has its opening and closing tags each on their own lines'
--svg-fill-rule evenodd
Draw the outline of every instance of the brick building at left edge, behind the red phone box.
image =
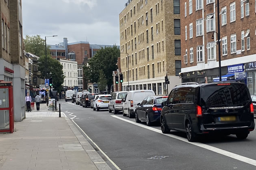
<svg viewBox="0 0 256 170">
<path fill-rule="evenodd" d="M 1 0 L 0 16 L 0 80 L 13 82 L 14 121 L 22 121 L 25 117 L 26 63 L 23 53 L 21 0 Z"/>
</svg>

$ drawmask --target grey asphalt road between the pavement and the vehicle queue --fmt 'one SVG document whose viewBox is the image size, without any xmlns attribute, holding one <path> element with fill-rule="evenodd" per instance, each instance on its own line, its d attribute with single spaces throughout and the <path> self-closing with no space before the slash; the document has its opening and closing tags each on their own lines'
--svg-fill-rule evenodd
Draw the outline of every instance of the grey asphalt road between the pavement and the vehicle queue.
<svg viewBox="0 0 256 170">
<path fill-rule="evenodd" d="M 162 134 L 161 127 L 148 127 L 135 119 L 93 111 L 75 103 L 59 101 L 61 111 L 85 132 L 107 155 L 99 154 L 113 168 L 121 170 L 255 170 L 256 132 L 246 140 L 236 136 L 205 136 L 188 142 L 185 133 Z M 98 149 L 96 149 L 98 150 Z M 165 156 L 163 159 L 149 159 Z M 111 161 L 114 162 L 114 165 Z"/>
</svg>

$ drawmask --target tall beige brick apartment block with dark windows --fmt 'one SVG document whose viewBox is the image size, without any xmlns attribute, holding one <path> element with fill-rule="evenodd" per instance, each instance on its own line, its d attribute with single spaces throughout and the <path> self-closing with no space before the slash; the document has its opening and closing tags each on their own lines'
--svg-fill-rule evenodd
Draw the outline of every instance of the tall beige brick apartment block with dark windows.
<svg viewBox="0 0 256 170">
<path fill-rule="evenodd" d="M 179 0 L 128 0 L 119 14 L 123 90 L 163 94 L 181 82 Z M 128 86 L 129 85 L 129 86 Z"/>
</svg>

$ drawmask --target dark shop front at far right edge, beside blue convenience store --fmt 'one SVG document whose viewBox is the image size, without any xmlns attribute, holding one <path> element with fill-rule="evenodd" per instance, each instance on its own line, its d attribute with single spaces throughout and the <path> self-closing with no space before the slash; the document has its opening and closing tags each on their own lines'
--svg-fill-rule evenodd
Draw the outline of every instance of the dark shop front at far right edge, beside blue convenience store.
<svg viewBox="0 0 256 170">
<path fill-rule="evenodd" d="M 256 95 L 256 62 L 245 63 L 247 87 L 251 95 Z"/>
</svg>

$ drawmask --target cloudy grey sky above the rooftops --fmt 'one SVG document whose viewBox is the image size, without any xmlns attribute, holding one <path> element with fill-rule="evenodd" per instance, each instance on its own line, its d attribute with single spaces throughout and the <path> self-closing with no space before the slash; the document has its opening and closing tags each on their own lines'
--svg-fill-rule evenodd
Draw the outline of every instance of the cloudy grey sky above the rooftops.
<svg viewBox="0 0 256 170">
<path fill-rule="evenodd" d="M 119 13 L 126 0 L 22 0 L 23 34 L 44 36 L 47 44 L 89 41 L 120 45 Z"/>
</svg>

